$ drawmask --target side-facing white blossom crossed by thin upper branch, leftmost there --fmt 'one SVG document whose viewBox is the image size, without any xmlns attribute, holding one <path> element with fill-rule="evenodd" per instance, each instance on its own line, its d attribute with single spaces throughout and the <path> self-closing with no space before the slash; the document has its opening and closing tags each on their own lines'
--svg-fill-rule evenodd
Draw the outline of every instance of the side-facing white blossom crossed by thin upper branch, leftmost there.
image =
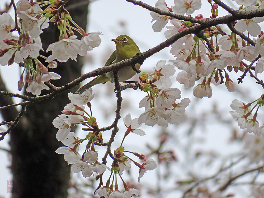
<svg viewBox="0 0 264 198">
<path fill-rule="evenodd" d="M 158 2 L 155 3 L 155 7 L 163 11 L 169 11 L 165 0 L 158 0 Z M 155 21 L 155 23 L 152 25 L 152 29 L 154 32 L 160 32 L 169 21 L 169 18 L 166 15 L 159 15 L 156 12 L 150 12 L 150 15 L 152 16 L 151 22 Z"/>
</svg>

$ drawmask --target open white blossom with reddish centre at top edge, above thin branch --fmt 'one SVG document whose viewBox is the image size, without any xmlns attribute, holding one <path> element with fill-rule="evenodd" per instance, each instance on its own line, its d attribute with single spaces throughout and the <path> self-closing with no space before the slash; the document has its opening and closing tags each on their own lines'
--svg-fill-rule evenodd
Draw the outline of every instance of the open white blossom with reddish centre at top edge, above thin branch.
<svg viewBox="0 0 264 198">
<path fill-rule="evenodd" d="M 201 0 L 174 0 L 174 4 L 172 11 L 178 15 L 191 15 L 202 6 Z"/>
</svg>

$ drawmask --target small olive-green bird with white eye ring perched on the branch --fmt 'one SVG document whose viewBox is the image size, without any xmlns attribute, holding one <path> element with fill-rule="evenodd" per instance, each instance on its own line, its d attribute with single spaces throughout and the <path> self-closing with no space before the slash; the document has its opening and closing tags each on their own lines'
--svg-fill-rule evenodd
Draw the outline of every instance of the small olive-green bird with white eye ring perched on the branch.
<svg viewBox="0 0 264 198">
<path fill-rule="evenodd" d="M 120 35 L 116 39 L 112 39 L 112 41 L 116 44 L 116 50 L 112 53 L 110 58 L 106 61 L 105 66 L 111 65 L 122 60 L 126 60 L 132 58 L 137 53 L 140 53 L 138 46 L 135 44 L 133 39 L 126 35 Z M 140 64 L 135 64 L 135 68 L 139 70 Z M 132 69 L 131 66 L 123 67 L 118 70 L 119 81 L 124 82 L 130 78 L 132 78 L 136 72 Z M 82 94 L 86 89 L 90 87 L 100 84 L 106 83 L 108 81 L 114 81 L 113 72 L 107 72 L 102 75 L 97 76 L 92 81 L 88 82 L 86 85 L 79 88 L 76 93 Z"/>
</svg>

